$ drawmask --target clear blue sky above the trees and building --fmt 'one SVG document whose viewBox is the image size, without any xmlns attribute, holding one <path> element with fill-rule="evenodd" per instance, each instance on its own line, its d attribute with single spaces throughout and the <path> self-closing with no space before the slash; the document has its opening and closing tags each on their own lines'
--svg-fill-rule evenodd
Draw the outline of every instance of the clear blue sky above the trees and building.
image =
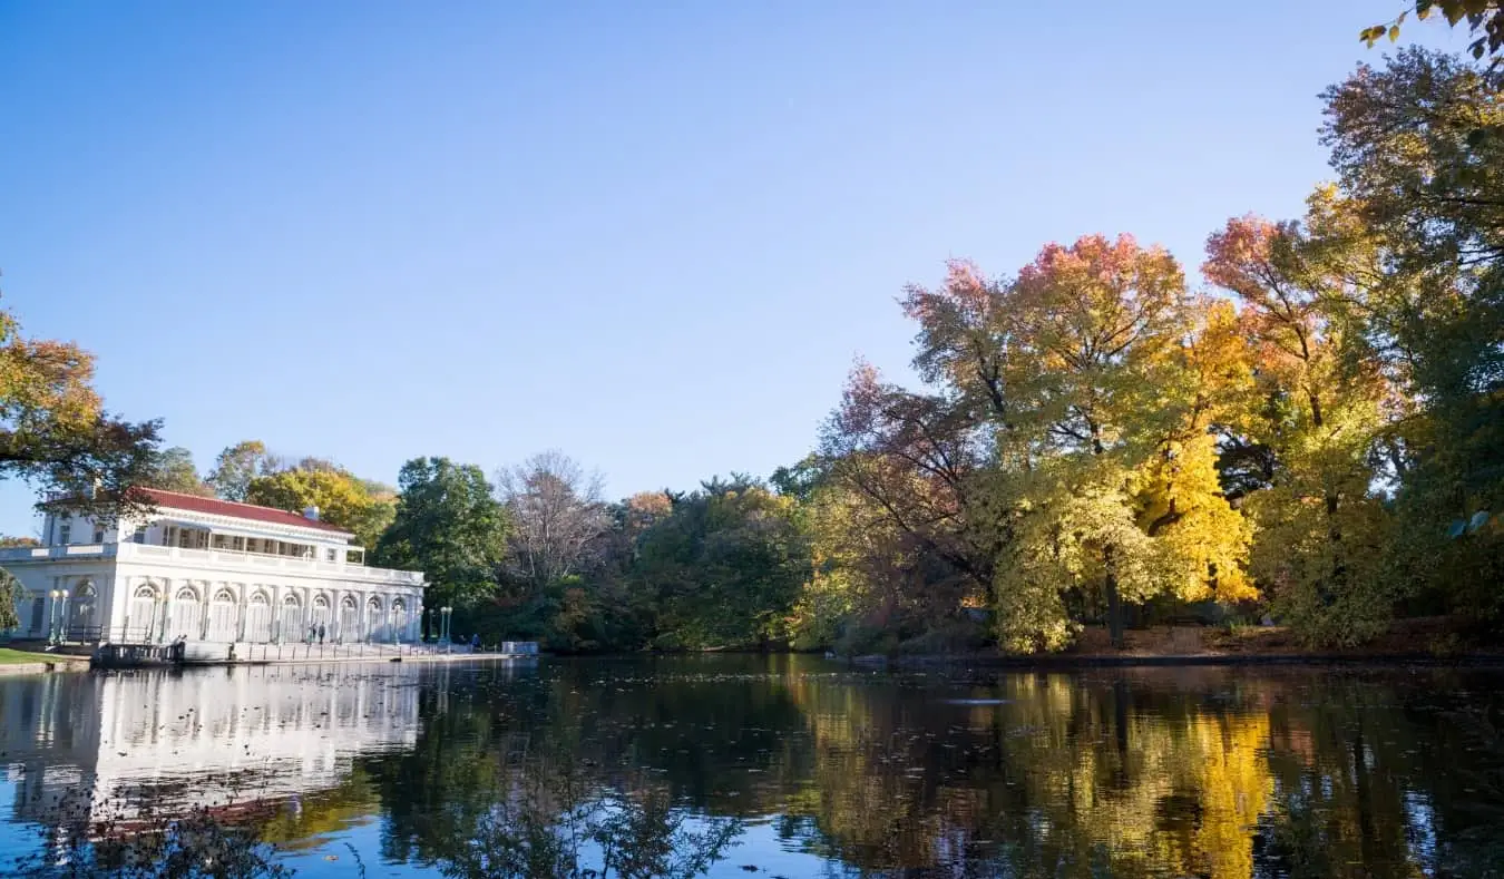
<svg viewBox="0 0 1504 879">
<path fill-rule="evenodd" d="M 0 0 L 3 306 L 202 470 L 767 474 L 948 257 L 1296 215 L 1399 6 Z"/>
</svg>

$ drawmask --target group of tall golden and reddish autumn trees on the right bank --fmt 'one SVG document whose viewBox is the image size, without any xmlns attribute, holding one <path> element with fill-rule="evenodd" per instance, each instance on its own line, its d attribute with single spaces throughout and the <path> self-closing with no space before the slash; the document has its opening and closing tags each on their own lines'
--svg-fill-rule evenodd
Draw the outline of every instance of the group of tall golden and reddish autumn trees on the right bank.
<svg viewBox="0 0 1504 879">
<path fill-rule="evenodd" d="M 926 387 L 860 367 L 824 430 L 814 619 L 985 608 L 1017 652 L 1188 613 L 1498 622 L 1504 66 L 1405 50 L 1324 99 L 1336 181 L 1212 232 L 1209 289 L 1090 235 L 907 290 Z"/>
</svg>

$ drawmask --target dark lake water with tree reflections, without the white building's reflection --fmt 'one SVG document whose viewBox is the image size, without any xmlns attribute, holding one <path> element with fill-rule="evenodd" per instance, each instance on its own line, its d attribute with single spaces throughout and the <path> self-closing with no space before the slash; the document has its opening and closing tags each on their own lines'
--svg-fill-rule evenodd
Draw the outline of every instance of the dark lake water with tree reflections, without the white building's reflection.
<svg viewBox="0 0 1504 879">
<path fill-rule="evenodd" d="M 1501 685 L 1439 668 L 886 674 L 806 656 L 426 671 L 388 700 L 406 706 L 400 742 L 378 736 L 296 804 L 215 813 L 242 829 L 203 840 L 244 847 L 242 874 L 313 879 L 356 874 L 344 844 L 370 844 L 362 825 L 379 831 L 359 852 L 373 874 L 456 879 L 1504 876 Z M 29 778 L 48 769 L 29 760 Z M 68 840 L 113 838 L 42 823 L 54 867 Z M 77 862 L 140 865 L 131 846 L 165 850 L 96 841 Z"/>
</svg>

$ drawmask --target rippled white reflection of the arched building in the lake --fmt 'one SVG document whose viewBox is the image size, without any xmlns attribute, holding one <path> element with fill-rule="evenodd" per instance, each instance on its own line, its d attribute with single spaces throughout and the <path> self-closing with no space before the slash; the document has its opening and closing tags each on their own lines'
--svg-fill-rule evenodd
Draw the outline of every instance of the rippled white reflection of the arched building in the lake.
<svg viewBox="0 0 1504 879">
<path fill-rule="evenodd" d="M 0 680 L 11 822 L 72 826 L 239 811 L 338 787 L 411 750 L 450 665 L 268 665 Z"/>
</svg>

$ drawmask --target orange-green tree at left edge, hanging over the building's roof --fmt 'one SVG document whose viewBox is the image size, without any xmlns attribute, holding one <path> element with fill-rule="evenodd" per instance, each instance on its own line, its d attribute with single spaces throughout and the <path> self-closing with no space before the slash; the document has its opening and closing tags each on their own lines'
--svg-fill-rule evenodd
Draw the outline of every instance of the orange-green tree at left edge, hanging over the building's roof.
<svg viewBox="0 0 1504 879">
<path fill-rule="evenodd" d="M 21 336 L 0 310 L 0 479 L 21 479 L 80 513 L 143 509 L 129 488 L 147 479 L 158 421 L 108 414 L 95 393 L 93 357 L 77 345 Z"/>
</svg>

